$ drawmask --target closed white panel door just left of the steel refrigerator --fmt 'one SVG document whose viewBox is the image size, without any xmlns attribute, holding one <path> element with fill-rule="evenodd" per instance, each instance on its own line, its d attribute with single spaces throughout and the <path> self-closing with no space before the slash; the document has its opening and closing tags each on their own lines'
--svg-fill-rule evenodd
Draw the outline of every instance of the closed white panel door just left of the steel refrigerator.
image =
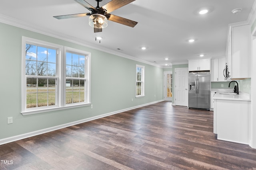
<svg viewBox="0 0 256 170">
<path fill-rule="evenodd" d="M 175 105 L 188 106 L 188 68 L 175 68 Z"/>
</svg>

